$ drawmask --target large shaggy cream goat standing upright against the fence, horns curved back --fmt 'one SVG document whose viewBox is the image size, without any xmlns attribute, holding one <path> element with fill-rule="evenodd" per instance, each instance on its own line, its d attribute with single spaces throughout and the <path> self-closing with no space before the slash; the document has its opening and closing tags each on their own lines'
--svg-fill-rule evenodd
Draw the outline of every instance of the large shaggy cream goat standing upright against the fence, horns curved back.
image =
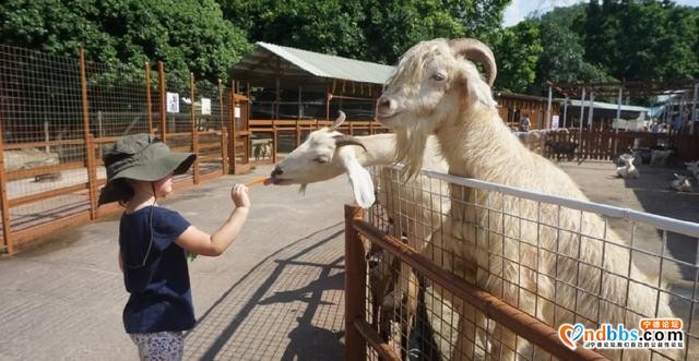
<svg viewBox="0 0 699 361">
<path fill-rule="evenodd" d="M 484 65 L 487 83 L 471 60 Z M 420 168 L 427 136 L 436 134 L 450 173 L 588 201 L 569 176 L 507 129 L 488 86 L 496 73 L 493 52 L 474 39 L 423 41 L 405 52 L 377 103 L 377 120 L 396 132 L 408 175 Z M 626 242 L 600 216 L 470 188 L 453 186 L 451 196 L 463 202 L 452 202 L 437 234 L 453 254 L 443 266 L 466 281 L 553 327 L 637 328 L 639 314 L 673 315 L 666 294 L 657 299 L 657 281 L 631 263 Z M 462 315 L 473 314 L 460 306 Z M 455 357 L 514 359 L 532 347 L 491 324 L 481 313 L 474 324 L 460 324 Z M 619 357 L 618 350 L 604 353 Z M 650 352 L 625 350 L 624 357 L 648 359 Z"/>
</svg>

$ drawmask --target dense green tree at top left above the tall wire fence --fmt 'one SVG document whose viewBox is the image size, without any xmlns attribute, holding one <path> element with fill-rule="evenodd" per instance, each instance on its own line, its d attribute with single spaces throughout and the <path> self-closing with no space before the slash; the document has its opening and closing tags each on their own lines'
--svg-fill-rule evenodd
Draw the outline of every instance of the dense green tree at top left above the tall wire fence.
<svg viewBox="0 0 699 361">
<path fill-rule="evenodd" d="M 7 0 L 0 4 L 3 43 L 75 56 L 128 76 L 143 62 L 162 60 L 170 75 L 226 79 L 232 63 L 250 45 L 246 34 L 223 19 L 214 0 Z"/>
</svg>

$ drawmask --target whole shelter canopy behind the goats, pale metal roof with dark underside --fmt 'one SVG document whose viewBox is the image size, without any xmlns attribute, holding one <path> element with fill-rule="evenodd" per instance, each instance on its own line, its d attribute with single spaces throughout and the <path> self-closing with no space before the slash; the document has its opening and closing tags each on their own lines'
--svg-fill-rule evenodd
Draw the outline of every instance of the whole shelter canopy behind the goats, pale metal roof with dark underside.
<svg viewBox="0 0 699 361">
<path fill-rule="evenodd" d="M 279 76 L 283 88 L 301 85 L 305 88 L 325 89 L 333 80 L 382 85 L 393 69 L 394 67 L 379 63 L 259 41 L 254 50 L 234 65 L 230 75 L 236 81 L 247 81 L 259 86 L 275 86 Z"/>
</svg>

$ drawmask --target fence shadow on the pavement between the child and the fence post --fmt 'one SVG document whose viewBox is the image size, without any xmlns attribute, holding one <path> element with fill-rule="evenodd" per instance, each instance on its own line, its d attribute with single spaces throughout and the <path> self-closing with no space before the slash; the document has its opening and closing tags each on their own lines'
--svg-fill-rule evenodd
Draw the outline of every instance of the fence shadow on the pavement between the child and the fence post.
<svg viewBox="0 0 699 361">
<path fill-rule="evenodd" d="M 316 231 L 254 266 L 187 335 L 186 357 L 341 359 L 343 233 L 343 224 Z"/>
</svg>

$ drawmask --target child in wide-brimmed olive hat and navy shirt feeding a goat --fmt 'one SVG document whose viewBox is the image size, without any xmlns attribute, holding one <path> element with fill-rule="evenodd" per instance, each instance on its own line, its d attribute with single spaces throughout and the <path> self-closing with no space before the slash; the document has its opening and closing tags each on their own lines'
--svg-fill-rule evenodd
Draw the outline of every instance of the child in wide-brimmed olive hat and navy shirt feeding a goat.
<svg viewBox="0 0 699 361">
<path fill-rule="evenodd" d="M 99 204 L 125 206 L 119 224 L 119 267 L 130 294 L 123 325 L 141 360 L 181 360 L 183 332 L 194 327 L 186 251 L 217 256 L 248 217 L 248 189 L 234 185 L 235 209 L 213 234 L 191 226 L 157 201 L 173 192 L 173 176 L 187 172 L 194 154 L 170 153 L 149 134 L 125 136 L 103 156 L 107 184 Z"/>
</svg>

